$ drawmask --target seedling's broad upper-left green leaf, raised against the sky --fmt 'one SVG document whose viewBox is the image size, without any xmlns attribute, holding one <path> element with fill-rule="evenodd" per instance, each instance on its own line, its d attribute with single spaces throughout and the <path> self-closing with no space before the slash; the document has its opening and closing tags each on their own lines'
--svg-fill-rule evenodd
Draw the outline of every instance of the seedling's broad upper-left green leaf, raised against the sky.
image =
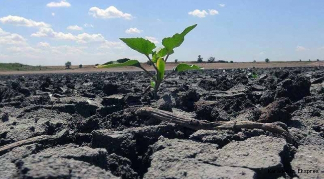
<svg viewBox="0 0 324 179">
<path fill-rule="evenodd" d="M 156 48 L 155 44 L 144 38 L 121 38 L 133 50 L 144 55 L 152 54 L 152 50 Z"/>
</svg>

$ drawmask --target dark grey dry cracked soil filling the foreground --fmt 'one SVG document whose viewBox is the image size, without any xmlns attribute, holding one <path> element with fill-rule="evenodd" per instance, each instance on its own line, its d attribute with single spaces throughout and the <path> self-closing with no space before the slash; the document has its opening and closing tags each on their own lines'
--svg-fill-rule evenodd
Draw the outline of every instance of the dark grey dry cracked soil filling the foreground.
<svg viewBox="0 0 324 179">
<path fill-rule="evenodd" d="M 141 72 L 0 76 L 0 179 L 324 179 L 323 67 L 186 72 L 159 99 L 149 82 Z M 295 140 L 194 131 L 143 106 L 275 123 Z"/>
</svg>

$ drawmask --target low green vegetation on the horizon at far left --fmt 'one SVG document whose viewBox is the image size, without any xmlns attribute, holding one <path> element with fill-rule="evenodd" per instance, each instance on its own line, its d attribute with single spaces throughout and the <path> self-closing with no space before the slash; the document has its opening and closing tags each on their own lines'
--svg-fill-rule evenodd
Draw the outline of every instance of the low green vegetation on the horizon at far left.
<svg viewBox="0 0 324 179">
<path fill-rule="evenodd" d="M 42 71 L 50 70 L 48 67 L 23 65 L 20 63 L 0 63 L 0 71 Z"/>
</svg>

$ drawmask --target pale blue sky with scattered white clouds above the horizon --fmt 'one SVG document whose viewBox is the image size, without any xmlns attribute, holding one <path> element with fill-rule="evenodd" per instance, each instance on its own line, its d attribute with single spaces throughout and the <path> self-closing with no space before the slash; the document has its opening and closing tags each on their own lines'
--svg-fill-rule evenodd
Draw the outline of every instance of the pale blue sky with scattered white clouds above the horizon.
<svg viewBox="0 0 324 179">
<path fill-rule="evenodd" d="M 169 61 L 324 60 L 324 0 L 0 0 L 0 62 L 146 62 L 119 38 L 162 39 L 198 24 Z"/>
</svg>

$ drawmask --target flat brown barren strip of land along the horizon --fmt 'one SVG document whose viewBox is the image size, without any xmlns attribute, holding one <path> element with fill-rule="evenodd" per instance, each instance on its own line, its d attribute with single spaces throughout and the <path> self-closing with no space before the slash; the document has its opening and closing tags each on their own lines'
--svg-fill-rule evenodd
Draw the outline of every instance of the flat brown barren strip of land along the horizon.
<svg viewBox="0 0 324 179">
<path fill-rule="evenodd" d="M 179 62 L 181 63 L 181 62 Z M 302 61 L 302 62 L 257 62 L 257 63 L 193 63 L 185 62 L 187 64 L 195 64 L 205 69 L 238 69 L 238 68 L 276 68 L 276 67 L 316 67 L 324 66 L 324 62 L 319 61 Z M 178 64 L 178 63 L 177 63 Z M 176 63 L 166 63 L 165 70 L 172 70 L 173 67 L 177 65 Z M 152 66 L 143 63 L 142 66 L 149 71 L 154 71 Z M 141 71 L 141 69 L 136 67 L 123 67 L 123 68 L 110 68 L 110 69 L 97 69 L 94 65 L 84 65 L 83 68 L 79 66 L 72 66 L 71 69 L 66 70 L 65 66 L 42 66 L 41 68 L 33 67 L 36 70 L 21 70 L 17 71 L 14 68 L 10 70 L 0 69 L 0 75 L 10 75 L 10 74 L 44 74 L 44 73 L 86 73 L 86 72 L 130 72 L 130 71 Z M 38 69 L 38 70 L 37 70 Z"/>
</svg>

